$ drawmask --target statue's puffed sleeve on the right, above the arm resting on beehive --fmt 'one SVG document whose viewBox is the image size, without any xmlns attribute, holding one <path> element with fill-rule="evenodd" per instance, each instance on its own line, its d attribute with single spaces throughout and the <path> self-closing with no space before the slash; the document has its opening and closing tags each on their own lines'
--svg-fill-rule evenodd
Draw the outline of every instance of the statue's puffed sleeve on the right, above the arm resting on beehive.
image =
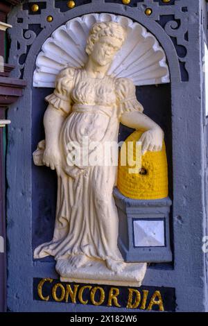
<svg viewBox="0 0 208 326">
<path fill-rule="evenodd" d="M 143 112 L 143 106 L 137 101 L 135 85 L 129 78 L 116 79 L 116 96 L 119 118 L 126 112 Z"/>
</svg>

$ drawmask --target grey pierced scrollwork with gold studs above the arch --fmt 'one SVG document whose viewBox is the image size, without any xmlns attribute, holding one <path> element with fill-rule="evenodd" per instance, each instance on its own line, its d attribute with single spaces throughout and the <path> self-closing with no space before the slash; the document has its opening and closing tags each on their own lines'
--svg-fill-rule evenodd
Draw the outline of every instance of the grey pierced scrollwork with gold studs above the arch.
<svg viewBox="0 0 208 326">
<path fill-rule="evenodd" d="M 100 2 L 102 6 L 103 4 L 106 4 L 106 6 L 111 6 L 113 2 L 114 5 L 119 6 L 118 8 L 124 8 L 122 1 L 116 1 L 115 3 L 115 1 L 109 0 L 77 1 L 76 7 L 81 5 L 87 6 L 90 3 L 93 6 L 94 4 L 97 5 L 98 2 Z M 33 3 L 34 1 L 26 1 L 26 3 L 17 6 L 12 10 L 8 19 L 8 23 L 15 26 L 15 28 L 11 28 L 9 31 L 10 38 L 15 40 L 11 42 L 10 53 L 16 53 L 15 58 L 13 56 L 10 58 L 10 62 L 17 67 L 13 74 L 19 78 L 23 78 L 24 63 L 26 61 L 28 51 L 31 48 L 31 44 L 33 44 L 36 37 L 46 29 L 51 29 L 52 31 L 53 20 L 60 21 L 60 18 L 62 18 L 63 15 L 66 15 L 67 10 L 73 10 L 67 8 L 67 3 L 65 3 L 65 1 L 63 2 L 62 6 L 60 6 L 62 1 L 37 0 L 35 3 L 37 3 L 37 6 L 39 6 L 39 10 L 37 10 L 37 12 L 32 12 L 31 6 Z M 66 6 L 65 9 L 64 6 Z M 132 1 L 130 6 L 134 6 L 134 10 L 138 10 L 138 19 L 139 15 L 144 15 L 144 17 L 148 17 L 148 19 L 152 19 L 153 21 L 157 22 L 157 24 L 162 26 L 166 34 L 171 37 L 180 64 L 181 80 L 188 81 L 189 67 L 187 67 L 187 49 L 189 44 L 189 1 L 171 0 L 170 3 L 164 3 L 161 0 Z M 125 6 L 125 8 L 126 7 L 128 6 Z M 151 10 L 151 14 L 148 16 L 146 15 L 147 8 L 150 8 Z"/>
</svg>

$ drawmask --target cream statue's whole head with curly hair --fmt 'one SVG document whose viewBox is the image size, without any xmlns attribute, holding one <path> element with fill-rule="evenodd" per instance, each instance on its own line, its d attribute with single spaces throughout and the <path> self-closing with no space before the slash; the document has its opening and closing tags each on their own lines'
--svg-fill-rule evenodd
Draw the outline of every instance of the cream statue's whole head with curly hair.
<svg viewBox="0 0 208 326">
<path fill-rule="evenodd" d="M 125 30 L 119 23 L 98 22 L 89 33 L 86 52 L 98 65 L 107 65 L 121 49 L 125 37 Z"/>
</svg>

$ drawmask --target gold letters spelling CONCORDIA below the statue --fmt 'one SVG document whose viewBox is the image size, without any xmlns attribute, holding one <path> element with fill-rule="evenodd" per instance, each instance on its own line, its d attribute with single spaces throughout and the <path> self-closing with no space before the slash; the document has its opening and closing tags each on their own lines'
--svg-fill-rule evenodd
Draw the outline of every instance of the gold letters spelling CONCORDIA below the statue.
<svg viewBox="0 0 208 326">
<path fill-rule="evenodd" d="M 47 282 L 51 284 L 53 280 L 51 278 L 44 278 L 37 286 L 37 294 L 43 301 L 49 301 L 51 297 L 55 302 L 89 303 L 94 306 L 101 306 L 103 302 L 107 302 L 108 307 L 121 307 L 121 302 L 127 302 L 122 307 L 150 311 L 153 310 L 153 306 L 156 306 L 159 311 L 164 311 L 162 294 L 158 290 L 150 296 L 148 290 L 128 288 L 127 298 L 122 298 L 120 290 L 116 287 L 111 287 L 109 291 L 106 291 L 102 286 L 56 283 L 53 286 L 51 284 L 51 287 L 44 288 Z M 83 299 L 84 292 L 84 298 L 87 296 L 88 300 Z"/>
</svg>

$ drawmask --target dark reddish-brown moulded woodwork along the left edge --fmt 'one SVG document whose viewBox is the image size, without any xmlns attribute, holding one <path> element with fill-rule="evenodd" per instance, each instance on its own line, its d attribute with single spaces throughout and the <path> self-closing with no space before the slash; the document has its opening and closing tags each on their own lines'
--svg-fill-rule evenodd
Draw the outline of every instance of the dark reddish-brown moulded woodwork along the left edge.
<svg viewBox="0 0 208 326">
<path fill-rule="evenodd" d="M 21 3 L 21 0 L 0 0 L 0 22 L 6 23 L 8 13 L 13 6 L 19 3 Z M 5 25 L 3 26 L 6 27 Z M 5 31 L 0 31 L 0 55 L 3 57 L 5 46 Z M 0 69 L 0 120 L 5 119 L 5 111 L 8 105 L 17 101 L 26 86 L 24 80 L 9 77 L 10 71 L 14 69 L 14 66 L 4 65 L 3 68 Z M 0 252 L 0 312 L 6 311 L 6 208 L 4 178 L 3 128 L 0 128 L 0 237 L 1 240 L 3 238 L 4 242 L 4 252 Z"/>
</svg>

